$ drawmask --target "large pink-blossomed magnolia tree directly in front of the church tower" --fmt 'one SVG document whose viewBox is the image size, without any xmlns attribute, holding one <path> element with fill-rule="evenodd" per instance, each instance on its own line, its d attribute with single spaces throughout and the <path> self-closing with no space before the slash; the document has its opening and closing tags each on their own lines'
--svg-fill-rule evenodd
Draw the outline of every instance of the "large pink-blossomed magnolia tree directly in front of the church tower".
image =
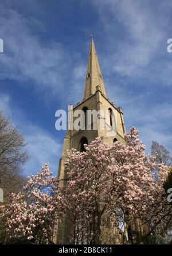
<svg viewBox="0 0 172 256">
<path fill-rule="evenodd" d="M 70 150 L 65 166 L 73 243 L 103 243 L 105 230 L 110 243 L 126 243 L 127 235 L 143 243 L 157 230 L 165 235 L 172 216 L 163 188 L 168 168 L 145 155 L 138 131 L 131 128 L 126 144 L 97 138 L 85 150 Z"/>
</svg>

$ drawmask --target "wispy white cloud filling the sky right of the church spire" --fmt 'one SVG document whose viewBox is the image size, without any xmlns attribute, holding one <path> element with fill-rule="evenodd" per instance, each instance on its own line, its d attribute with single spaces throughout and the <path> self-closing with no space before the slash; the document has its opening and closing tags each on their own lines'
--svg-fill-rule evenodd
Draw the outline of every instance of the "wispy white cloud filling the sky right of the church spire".
<svg viewBox="0 0 172 256">
<path fill-rule="evenodd" d="M 172 93 L 172 55 L 166 51 L 171 38 L 169 2 L 92 1 L 99 13 L 97 28 L 101 26 L 106 39 L 101 63 L 108 94 L 122 106 L 127 129 L 139 129 L 147 152 L 152 140 L 172 151 L 171 100 L 166 93 L 167 87 Z"/>
</svg>

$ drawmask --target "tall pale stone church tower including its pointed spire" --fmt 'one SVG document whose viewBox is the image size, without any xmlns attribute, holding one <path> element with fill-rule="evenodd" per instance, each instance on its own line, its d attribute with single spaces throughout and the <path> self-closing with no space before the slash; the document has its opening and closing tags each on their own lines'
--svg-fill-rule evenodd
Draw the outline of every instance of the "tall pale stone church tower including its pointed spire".
<svg viewBox="0 0 172 256">
<path fill-rule="evenodd" d="M 113 144 L 116 140 L 119 140 L 121 143 L 125 143 L 124 133 L 126 132 L 123 120 L 122 109 L 116 108 L 113 102 L 107 96 L 107 91 L 105 89 L 103 75 L 101 74 L 99 61 L 96 54 L 95 44 L 93 42 L 93 37 L 91 37 L 91 45 L 89 49 L 88 56 L 88 67 L 87 67 L 87 76 L 85 81 L 85 91 L 83 101 L 79 102 L 76 106 L 71 105 L 73 112 L 75 110 L 112 110 L 116 112 L 116 135 L 108 136 L 107 131 L 100 129 L 100 118 L 97 120 L 97 129 L 96 130 L 69 130 L 67 135 L 64 138 L 64 145 L 62 150 L 62 158 L 59 162 L 58 177 L 62 180 L 62 186 L 65 186 L 65 170 L 64 164 L 67 161 L 67 150 L 70 148 L 76 148 L 78 151 L 84 151 L 84 144 L 89 144 L 92 140 L 95 140 L 96 137 L 101 137 L 103 142 L 108 144 Z M 75 121 L 75 117 L 73 117 Z M 106 121 L 109 122 L 110 121 Z M 69 125 L 69 124 L 68 124 Z M 111 126 L 111 124 L 108 124 Z M 67 220 L 62 220 L 62 223 L 56 227 L 57 236 L 54 239 L 54 242 L 57 244 L 68 244 L 68 234 L 69 234 L 69 223 Z M 110 239 L 104 240 L 103 243 L 112 243 Z"/>
</svg>

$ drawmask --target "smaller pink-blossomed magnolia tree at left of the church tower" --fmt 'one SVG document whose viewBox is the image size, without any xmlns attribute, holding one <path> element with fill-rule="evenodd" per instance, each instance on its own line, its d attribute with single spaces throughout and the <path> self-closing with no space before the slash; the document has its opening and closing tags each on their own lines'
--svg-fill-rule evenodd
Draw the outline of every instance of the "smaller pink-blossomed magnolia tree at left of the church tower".
<svg viewBox="0 0 172 256">
<path fill-rule="evenodd" d="M 40 173 L 28 177 L 24 192 L 10 195 L 10 202 L 1 207 L 1 217 L 6 220 L 7 240 L 23 237 L 29 240 L 52 239 L 54 223 L 60 214 L 57 185 L 58 180 L 52 176 L 46 163 Z"/>
</svg>

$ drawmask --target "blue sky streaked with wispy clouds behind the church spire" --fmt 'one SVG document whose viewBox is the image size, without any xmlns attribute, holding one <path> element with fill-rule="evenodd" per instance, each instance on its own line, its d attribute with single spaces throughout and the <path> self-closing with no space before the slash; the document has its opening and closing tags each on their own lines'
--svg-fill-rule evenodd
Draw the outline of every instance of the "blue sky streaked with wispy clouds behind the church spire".
<svg viewBox="0 0 172 256">
<path fill-rule="evenodd" d="M 29 142 L 26 175 L 47 161 L 57 173 L 65 132 L 54 114 L 83 99 L 91 34 L 127 130 L 147 152 L 152 140 L 172 152 L 171 12 L 170 0 L 1 0 L 0 109 Z"/>
</svg>

